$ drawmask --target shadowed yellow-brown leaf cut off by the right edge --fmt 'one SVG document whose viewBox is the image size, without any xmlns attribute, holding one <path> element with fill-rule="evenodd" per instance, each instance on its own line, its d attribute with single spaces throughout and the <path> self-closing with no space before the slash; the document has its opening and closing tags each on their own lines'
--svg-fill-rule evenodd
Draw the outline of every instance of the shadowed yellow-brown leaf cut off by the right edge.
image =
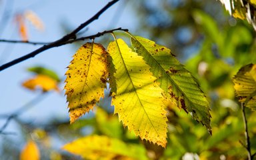
<svg viewBox="0 0 256 160">
<path fill-rule="evenodd" d="M 256 110 L 256 65 L 241 67 L 233 78 L 235 93 L 246 107 Z"/>
</svg>

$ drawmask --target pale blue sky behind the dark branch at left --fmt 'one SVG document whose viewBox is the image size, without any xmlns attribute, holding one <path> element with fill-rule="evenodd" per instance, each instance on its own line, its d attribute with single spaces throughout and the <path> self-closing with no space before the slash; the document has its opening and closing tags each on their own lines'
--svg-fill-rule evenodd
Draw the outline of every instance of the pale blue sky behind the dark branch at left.
<svg viewBox="0 0 256 160">
<path fill-rule="evenodd" d="M 0 19 L 2 18 L 3 9 L 7 1 L 11 0 L 0 1 Z M 29 41 L 55 41 L 63 37 L 65 34 L 61 24 L 65 23 L 70 29 L 75 29 L 75 27 L 92 17 L 97 11 L 99 11 L 99 9 L 106 5 L 107 2 L 108 1 L 102 0 L 13 0 L 13 9 L 10 13 L 10 19 L 5 23 L 6 27 L 0 34 L 0 39 L 20 40 L 21 38 L 19 37 L 17 26 L 14 23 L 14 16 L 16 13 L 23 13 L 23 11 L 31 10 L 41 18 L 45 25 L 45 31 L 37 31 L 33 25 L 27 23 L 29 29 Z M 137 23 L 135 18 L 136 15 L 131 11 L 131 5 L 129 4 L 126 5 L 124 9 L 119 9 L 119 7 L 123 7 L 123 2 L 124 1 L 122 0 L 119 1 L 103 13 L 98 20 L 88 25 L 88 30 L 83 33 L 83 35 L 92 35 L 115 27 L 127 28 L 131 33 L 133 33 L 133 29 L 135 29 L 135 24 Z M 115 17 L 120 14 L 120 18 L 115 19 Z M 40 45 L 0 43 L 0 57 L 4 57 L 1 59 L 0 65 L 16 59 L 17 57 L 26 55 L 38 47 L 40 47 Z M 23 81 L 33 76 L 31 73 L 26 71 L 28 67 L 42 65 L 56 71 L 59 77 L 64 77 L 66 67 L 69 65 L 71 56 L 75 53 L 75 50 L 74 46 L 71 45 L 49 49 L 31 59 L 28 59 L 27 61 L 23 61 L 1 71 L 0 113 L 12 113 L 40 94 L 40 91 L 32 92 L 21 87 L 21 83 Z M 63 89 L 64 85 L 64 83 L 61 83 L 61 89 Z M 47 123 L 47 120 L 51 118 L 68 119 L 67 103 L 63 93 L 64 91 L 62 91 L 61 94 L 54 92 L 50 93 L 35 107 L 23 113 L 21 118 L 29 119 L 35 123 Z M 4 122 L 5 119 L 0 119 L 0 126 L 3 125 Z M 14 123 L 12 122 L 5 131 L 16 132 L 16 126 L 13 124 Z M 11 136 L 19 137 L 20 133 L 17 133 L 18 135 Z"/>
</svg>

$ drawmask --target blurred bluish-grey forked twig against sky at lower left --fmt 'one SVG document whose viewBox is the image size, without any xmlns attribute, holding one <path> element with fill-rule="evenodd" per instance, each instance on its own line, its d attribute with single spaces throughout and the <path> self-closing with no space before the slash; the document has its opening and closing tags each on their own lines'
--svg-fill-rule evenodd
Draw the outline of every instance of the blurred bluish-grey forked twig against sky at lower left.
<svg viewBox="0 0 256 160">
<path fill-rule="evenodd" d="M 20 107 L 19 109 L 17 109 L 17 111 L 13 112 L 11 115 L 7 116 L 7 119 L 5 121 L 5 123 L 2 125 L 2 127 L 0 128 L 0 134 L 6 134 L 5 132 L 3 132 L 6 127 L 9 125 L 9 123 L 11 122 L 12 119 L 16 119 L 19 115 L 21 115 L 22 113 L 24 113 L 25 111 L 27 111 L 28 109 L 30 109 L 31 107 L 35 106 L 35 103 L 38 103 L 39 101 L 43 100 L 43 98 L 45 97 L 45 95 L 47 95 L 47 93 L 43 93 L 38 95 L 37 97 L 35 97 L 34 99 L 32 99 L 31 101 L 29 101 L 28 103 L 26 103 L 25 105 L 23 105 L 22 107 Z M 3 116 L 3 115 L 1 115 Z"/>
</svg>

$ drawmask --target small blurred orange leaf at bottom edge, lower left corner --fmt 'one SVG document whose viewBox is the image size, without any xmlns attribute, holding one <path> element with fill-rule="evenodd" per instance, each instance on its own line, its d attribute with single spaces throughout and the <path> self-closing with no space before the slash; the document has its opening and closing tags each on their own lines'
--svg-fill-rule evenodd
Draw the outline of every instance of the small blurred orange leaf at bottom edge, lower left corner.
<svg viewBox="0 0 256 160">
<path fill-rule="evenodd" d="M 21 155 L 19 157 L 20 160 L 39 160 L 40 152 L 37 147 L 37 144 L 33 141 L 29 141 L 27 145 L 25 145 L 23 151 L 21 151 Z"/>
</svg>

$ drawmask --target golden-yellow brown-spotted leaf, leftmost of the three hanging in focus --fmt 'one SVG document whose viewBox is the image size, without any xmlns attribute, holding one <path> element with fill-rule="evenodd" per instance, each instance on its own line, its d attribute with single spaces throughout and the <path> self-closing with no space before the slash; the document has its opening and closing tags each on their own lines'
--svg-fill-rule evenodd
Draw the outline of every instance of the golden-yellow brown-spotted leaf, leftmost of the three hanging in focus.
<svg viewBox="0 0 256 160">
<path fill-rule="evenodd" d="M 103 97 L 108 75 L 106 59 L 107 52 L 97 43 L 86 43 L 73 56 L 65 73 L 71 123 L 93 109 Z"/>
</svg>

